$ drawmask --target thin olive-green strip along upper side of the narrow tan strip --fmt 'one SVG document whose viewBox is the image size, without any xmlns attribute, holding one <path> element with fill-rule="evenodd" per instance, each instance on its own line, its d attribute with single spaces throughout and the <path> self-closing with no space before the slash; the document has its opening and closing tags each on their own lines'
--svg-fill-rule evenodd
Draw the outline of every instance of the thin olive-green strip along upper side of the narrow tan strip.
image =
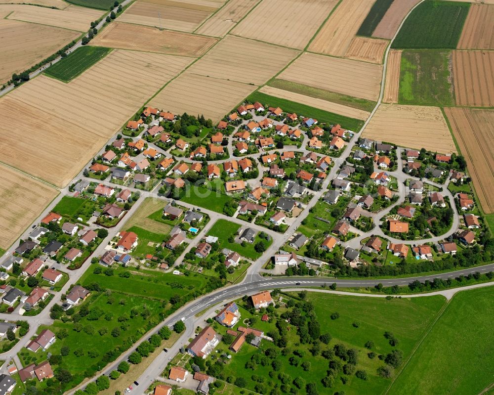
<svg viewBox="0 0 494 395">
<path fill-rule="evenodd" d="M 275 79 L 268 83 L 270 87 L 289 90 L 290 92 L 304 94 L 316 99 L 328 100 L 333 103 L 357 108 L 364 111 L 372 111 L 376 105 L 375 101 L 359 99 L 345 94 L 331 92 L 326 89 L 309 87 L 308 85 L 297 84 L 295 82 Z"/>
</svg>

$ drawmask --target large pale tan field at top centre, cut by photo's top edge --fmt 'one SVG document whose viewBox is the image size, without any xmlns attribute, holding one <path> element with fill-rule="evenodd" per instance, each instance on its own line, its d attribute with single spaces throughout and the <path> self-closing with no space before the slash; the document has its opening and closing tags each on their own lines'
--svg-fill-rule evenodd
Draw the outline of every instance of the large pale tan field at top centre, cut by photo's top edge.
<svg viewBox="0 0 494 395">
<path fill-rule="evenodd" d="M 303 49 L 337 0 L 262 0 L 232 33 Z"/>
</svg>

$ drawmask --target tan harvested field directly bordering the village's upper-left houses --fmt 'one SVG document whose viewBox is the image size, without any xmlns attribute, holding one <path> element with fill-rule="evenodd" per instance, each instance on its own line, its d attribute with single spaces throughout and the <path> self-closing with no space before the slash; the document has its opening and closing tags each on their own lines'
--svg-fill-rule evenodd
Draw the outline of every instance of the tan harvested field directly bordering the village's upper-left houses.
<svg viewBox="0 0 494 395">
<path fill-rule="evenodd" d="M 150 105 L 175 114 L 204 114 L 216 123 L 255 88 L 185 72 L 153 97 Z"/>
</svg>

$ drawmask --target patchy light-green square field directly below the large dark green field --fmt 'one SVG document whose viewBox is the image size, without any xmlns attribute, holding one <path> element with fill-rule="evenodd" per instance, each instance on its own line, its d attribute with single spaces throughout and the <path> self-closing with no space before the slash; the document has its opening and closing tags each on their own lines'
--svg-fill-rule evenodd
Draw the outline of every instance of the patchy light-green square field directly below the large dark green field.
<svg viewBox="0 0 494 395">
<path fill-rule="evenodd" d="M 400 68 L 400 104 L 453 105 L 451 51 L 405 50 Z"/>
</svg>

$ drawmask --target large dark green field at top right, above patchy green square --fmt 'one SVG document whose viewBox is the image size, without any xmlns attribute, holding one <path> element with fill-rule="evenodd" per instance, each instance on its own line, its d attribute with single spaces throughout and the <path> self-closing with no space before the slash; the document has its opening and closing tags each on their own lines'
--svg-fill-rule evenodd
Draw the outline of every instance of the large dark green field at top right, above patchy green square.
<svg viewBox="0 0 494 395">
<path fill-rule="evenodd" d="M 470 3 L 427 0 L 406 19 L 393 48 L 456 48 Z"/>
</svg>

